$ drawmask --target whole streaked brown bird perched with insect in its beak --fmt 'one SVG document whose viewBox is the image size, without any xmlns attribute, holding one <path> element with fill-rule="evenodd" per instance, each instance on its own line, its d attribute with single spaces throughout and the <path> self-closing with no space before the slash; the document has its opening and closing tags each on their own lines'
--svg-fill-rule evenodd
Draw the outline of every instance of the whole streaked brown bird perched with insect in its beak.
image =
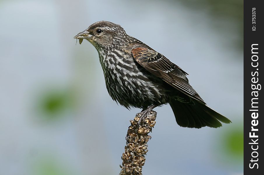
<svg viewBox="0 0 264 175">
<path fill-rule="evenodd" d="M 126 34 L 123 27 L 98 21 L 74 38 L 89 41 L 97 50 L 110 97 L 147 116 L 169 104 L 181 127 L 221 127 L 231 121 L 210 108 L 189 84 L 187 73 L 145 43 Z"/>
</svg>

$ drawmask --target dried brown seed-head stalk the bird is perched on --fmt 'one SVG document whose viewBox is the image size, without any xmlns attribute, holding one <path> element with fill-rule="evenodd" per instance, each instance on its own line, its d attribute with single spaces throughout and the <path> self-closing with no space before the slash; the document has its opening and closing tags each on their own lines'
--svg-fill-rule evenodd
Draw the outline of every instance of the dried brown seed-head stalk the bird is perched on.
<svg viewBox="0 0 264 175">
<path fill-rule="evenodd" d="M 141 117 L 141 113 L 137 113 L 134 120 L 130 120 L 131 126 L 127 130 L 125 153 L 123 153 L 121 159 L 123 160 L 122 166 L 120 165 L 121 172 L 119 175 L 132 174 L 142 175 L 142 166 L 145 164 L 145 156 L 148 152 L 147 142 L 151 139 L 148 135 L 152 131 L 155 125 L 155 119 L 157 116 L 156 111 L 151 113 L 141 121 L 138 125 L 138 121 Z"/>
</svg>

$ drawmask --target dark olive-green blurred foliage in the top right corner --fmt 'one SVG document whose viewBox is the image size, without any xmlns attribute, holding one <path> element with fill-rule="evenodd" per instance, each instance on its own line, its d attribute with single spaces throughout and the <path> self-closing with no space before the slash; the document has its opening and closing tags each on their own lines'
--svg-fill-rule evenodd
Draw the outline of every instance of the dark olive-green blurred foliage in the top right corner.
<svg viewBox="0 0 264 175">
<path fill-rule="evenodd" d="M 223 37 L 237 36 L 230 47 L 243 50 L 244 1 L 241 0 L 169 0 L 181 2 L 191 10 L 206 11 L 211 19 L 211 27 L 218 30 Z M 223 23 L 224 22 L 224 23 Z M 225 22 L 229 22 L 225 23 Z M 228 36 L 227 36 L 228 35 Z M 231 41 L 231 40 L 230 40 Z M 229 41 L 229 42 L 230 42 Z"/>
</svg>

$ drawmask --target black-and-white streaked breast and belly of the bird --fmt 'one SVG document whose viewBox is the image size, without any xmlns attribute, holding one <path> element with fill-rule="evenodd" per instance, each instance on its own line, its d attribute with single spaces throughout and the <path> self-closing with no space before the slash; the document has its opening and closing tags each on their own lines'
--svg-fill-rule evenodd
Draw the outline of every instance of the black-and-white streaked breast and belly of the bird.
<svg viewBox="0 0 264 175">
<path fill-rule="evenodd" d="M 132 55 L 116 52 L 106 56 L 109 54 L 107 51 L 98 53 L 106 88 L 114 101 L 127 108 L 145 108 L 152 104 L 168 103 L 164 81 L 137 65 Z"/>
</svg>

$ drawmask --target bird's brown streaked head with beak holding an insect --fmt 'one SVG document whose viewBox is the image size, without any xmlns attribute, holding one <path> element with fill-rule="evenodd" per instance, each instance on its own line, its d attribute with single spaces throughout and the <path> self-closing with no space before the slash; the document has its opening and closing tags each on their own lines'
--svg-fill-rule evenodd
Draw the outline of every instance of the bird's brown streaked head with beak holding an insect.
<svg viewBox="0 0 264 175">
<path fill-rule="evenodd" d="M 79 39 L 80 44 L 83 39 L 86 39 L 98 49 L 118 44 L 124 36 L 126 36 L 125 30 L 120 25 L 108 21 L 98 21 L 78 33 L 74 38 Z"/>
</svg>

